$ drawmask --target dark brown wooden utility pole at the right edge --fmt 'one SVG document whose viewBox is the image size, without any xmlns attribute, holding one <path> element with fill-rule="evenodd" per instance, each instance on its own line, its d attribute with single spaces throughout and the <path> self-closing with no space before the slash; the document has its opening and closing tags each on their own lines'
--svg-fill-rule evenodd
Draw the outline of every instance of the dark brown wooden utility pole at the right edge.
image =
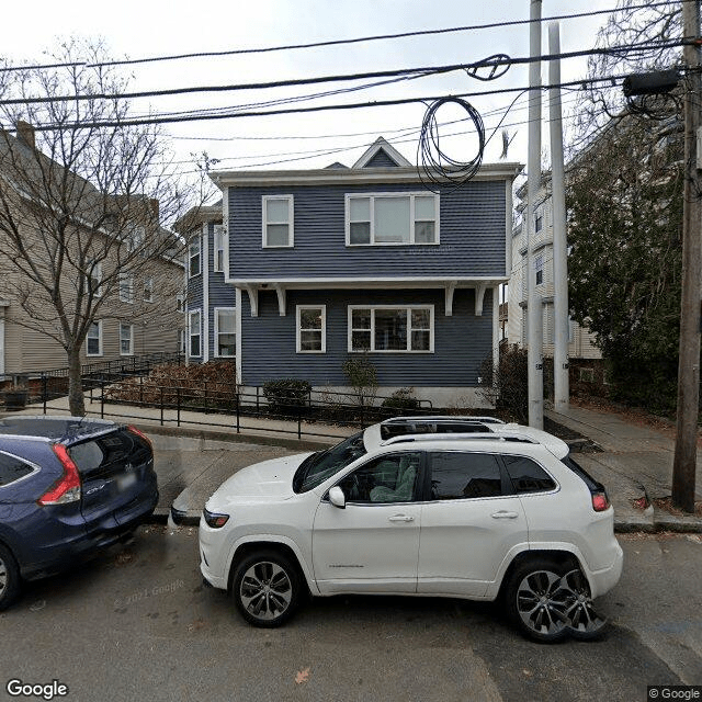
<svg viewBox="0 0 702 702">
<path fill-rule="evenodd" d="M 700 37 L 700 3 L 682 0 L 682 34 Z M 678 416 L 672 464 L 672 503 L 694 511 L 700 407 L 700 302 L 702 299 L 702 208 L 697 138 L 700 131 L 700 46 L 686 45 L 684 190 L 682 215 L 682 301 L 678 364 Z"/>
</svg>

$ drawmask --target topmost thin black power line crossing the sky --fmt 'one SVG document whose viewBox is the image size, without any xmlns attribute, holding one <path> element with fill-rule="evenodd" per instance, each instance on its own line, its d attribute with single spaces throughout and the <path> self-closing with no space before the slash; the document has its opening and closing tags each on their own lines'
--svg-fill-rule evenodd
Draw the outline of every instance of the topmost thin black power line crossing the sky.
<svg viewBox="0 0 702 702">
<path fill-rule="evenodd" d="M 683 1 L 693 1 L 693 0 L 683 0 Z M 653 2 L 653 3 L 643 3 L 636 5 L 630 5 L 627 10 L 648 10 L 653 8 L 661 8 L 669 7 L 670 2 Z M 578 20 L 582 18 L 597 16 L 601 14 L 613 14 L 619 12 L 621 8 L 612 8 L 608 10 L 591 10 L 590 12 L 578 12 L 570 14 L 558 14 L 552 15 L 548 18 L 540 18 L 539 20 L 510 20 L 506 22 L 491 22 L 487 24 L 473 24 L 473 25 L 464 25 L 464 26 L 453 26 L 453 27 L 444 27 L 439 30 L 419 30 L 414 32 L 399 32 L 395 34 L 376 34 L 371 36 L 359 36 L 352 37 L 348 39 L 328 39 L 324 42 L 309 42 L 304 44 L 286 44 L 280 46 L 268 46 L 268 47 L 258 47 L 258 48 L 242 48 L 242 49 L 230 49 L 225 52 L 194 52 L 190 54 L 173 54 L 170 56 L 150 56 L 145 58 L 133 58 L 133 59 L 122 59 L 122 60 L 110 60 L 110 61 L 66 61 L 58 64 L 38 64 L 38 65 L 30 65 L 30 66 L 5 66 L 0 68 L 1 71 L 21 71 L 21 70 L 32 70 L 32 69 L 42 69 L 42 68 L 60 68 L 60 67 L 78 67 L 84 66 L 86 68 L 99 68 L 105 66 L 133 66 L 137 64 L 152 64 L 159 61 L 171 61 L 171 60 L 181 60 L 189 58 L 216 58 L 223 56 L 240 56 L 247 54 L 267 54 L 272 52 L 283 52 L 283 50 L 293 50 L 293 49 L 305 49 L 305 48 L 320 48 L 325 46 L 341 46 L 349 44 L 359 44 L 363 42 L 378 42 L 386 39 L 398 39 L 398 38 L 408 38 L 415 36 L 432 36 L 438 34 L 451 34 L 458 32 L 474 32 L 479 30 L 490 30 L 490 29 L 501 29 L 507 26 L 520 26 L 523 24 L 531 24 L 534 21 L 537 22 L 552 22 L 556 20 Z"/>
</svg>

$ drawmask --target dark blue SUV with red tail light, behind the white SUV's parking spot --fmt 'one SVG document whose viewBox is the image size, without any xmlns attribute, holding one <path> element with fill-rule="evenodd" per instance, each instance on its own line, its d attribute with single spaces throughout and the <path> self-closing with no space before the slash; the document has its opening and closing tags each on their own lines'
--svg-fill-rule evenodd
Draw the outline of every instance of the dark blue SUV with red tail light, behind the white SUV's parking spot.
<svg viewBox="0 0 702 702">
<path fill-rule="evenodd" d="M 0 610 L 22 580 L 125 537 L 157 501 L 151 444 L 134 427 L 76 417 L 0 420 Z"/>
</svg>

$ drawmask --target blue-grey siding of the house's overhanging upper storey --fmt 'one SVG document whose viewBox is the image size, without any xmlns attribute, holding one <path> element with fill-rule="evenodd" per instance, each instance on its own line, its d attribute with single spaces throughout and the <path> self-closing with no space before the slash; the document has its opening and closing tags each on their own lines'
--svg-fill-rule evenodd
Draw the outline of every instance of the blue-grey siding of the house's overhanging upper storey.
<svg viewBox="0 0 702 702">
<path fill-rule="evenodd" d="M 505 181 L 473 181 L 440 193 L 440 245 L 347 247 L 347 193 L 422 192 L 421 183 L 228 188 L 230 275 L 405 278 L 505 275 Z M 263 195 L 294 196 L 294 244 L 262 248 Z"/>
</svg>

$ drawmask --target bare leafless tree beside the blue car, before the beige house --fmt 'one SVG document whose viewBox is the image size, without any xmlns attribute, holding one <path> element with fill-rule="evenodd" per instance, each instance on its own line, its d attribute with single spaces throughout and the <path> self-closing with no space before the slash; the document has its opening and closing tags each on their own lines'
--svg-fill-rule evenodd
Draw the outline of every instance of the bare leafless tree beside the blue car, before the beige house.
<svg viewBox="0 0 702 702">
<path fill-rule="evenodd" d="M 129 297 L 131 321 L 162 315 L 138 304 L 148 290 L 137 281 L 174 301 L 182 273 L 168 262 L 181 240 L 166 225 L 202 189 L 178 176 L 158 126 L 124 126 L 129 103 L 101 97 L 126 88 L 101 45 L 70 42 L 55 58 L 63 66 L 13 72 L 0 100 L 0 120 L 15 126 L 0 132 L 0 296 L 18 303 L 16 324 L 65 350 L 70 411 L 82 416 L 91 326 L 124 318 L 115 303 Z"/>
</svg>

